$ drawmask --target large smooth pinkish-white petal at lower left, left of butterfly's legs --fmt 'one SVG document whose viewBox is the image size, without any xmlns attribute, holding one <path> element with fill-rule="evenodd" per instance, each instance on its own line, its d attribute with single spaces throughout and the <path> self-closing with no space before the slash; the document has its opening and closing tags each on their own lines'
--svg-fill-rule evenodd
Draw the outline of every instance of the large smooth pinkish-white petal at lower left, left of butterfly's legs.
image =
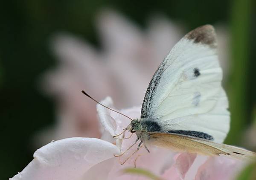
<svg viewBox="0 0 256 180">
<path fill-rule="evenodd" d="M 101 139 L 62 139 L 35 151 L 32 162 L 10 180 L 81 180 L 91 167 L 118 153 Z"/>
</svg>

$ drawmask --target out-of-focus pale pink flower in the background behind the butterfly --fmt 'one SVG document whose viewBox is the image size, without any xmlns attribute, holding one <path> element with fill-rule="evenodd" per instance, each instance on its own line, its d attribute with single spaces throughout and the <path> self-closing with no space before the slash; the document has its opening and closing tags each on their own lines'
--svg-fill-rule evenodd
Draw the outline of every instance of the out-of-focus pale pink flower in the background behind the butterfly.
<svg viewBox="0 0 256 180">
<path fill-rule="evenodd" d="M 95 103 L 82 89 L 98 100 L 113 97 L 119 108 L 142 104 L 154 71 L 183 35 L 164 17 L 148 24 L 141 31 L 119 14 L 103 11 L 96 20 L 101 50 L 72 35 L 55 36 L 52 48 L 59 64 L 46 73 L 44 90 L 56 100 L 57 122 L 35 137 L 38 146 L 52 139 L 101 136 Z"/>
</svg>

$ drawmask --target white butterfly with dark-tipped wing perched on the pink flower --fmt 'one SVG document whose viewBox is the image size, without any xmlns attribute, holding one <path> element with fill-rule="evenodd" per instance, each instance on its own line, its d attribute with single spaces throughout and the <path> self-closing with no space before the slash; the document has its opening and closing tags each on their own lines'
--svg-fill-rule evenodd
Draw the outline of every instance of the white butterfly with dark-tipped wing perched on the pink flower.
<svg viewBox="0 0 256 180">
<path fill-rule="evenodd" d="M 221 80 L 215 30 L 198 27 L 164 58 L 146 90 L 140 119 L 128 117 L 131 123 L 124 130 L 137 135 L 137 149 L 143 144 L 148 150 L 151 144 L 208 156 L 256 158 L 252 151 L 223 144 L 230 112 Z"/>
</svg>

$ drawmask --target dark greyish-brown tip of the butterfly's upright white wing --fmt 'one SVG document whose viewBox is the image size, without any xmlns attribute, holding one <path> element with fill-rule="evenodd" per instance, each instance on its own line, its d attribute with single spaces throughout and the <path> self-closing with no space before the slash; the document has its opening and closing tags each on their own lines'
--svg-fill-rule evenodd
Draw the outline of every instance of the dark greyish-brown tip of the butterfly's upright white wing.
<svg viewBox="0 0 256 180">
<path fill-rule="evenodd" d="M 193 40 L 194 43 L 207 44 L 211 47 L 216 47 L 216 34 L 214 27 L 212 25 L 200 26 L 188 34 L 185 35 L 185 38 Z"/>
</svg>

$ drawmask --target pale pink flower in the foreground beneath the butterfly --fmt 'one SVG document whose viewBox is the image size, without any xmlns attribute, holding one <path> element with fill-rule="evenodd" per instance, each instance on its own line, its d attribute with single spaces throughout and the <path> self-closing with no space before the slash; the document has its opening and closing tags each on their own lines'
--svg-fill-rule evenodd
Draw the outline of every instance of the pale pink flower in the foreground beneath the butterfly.
<svg viewBox="0 0 256 180">
<path fill-rule="evenodd" d="M 106 98 L 102 104 L 113 107 L 111 98 Z M 204 157 L 191 153 L 176 154 L 172 151 L 150 148 L 148 153 L 144 148 L 135 153 L 124 165 L 119 161 L 125 160 L 137 145 L 126 154 L 120 154 L 134 143 L 136 135 L 130 139 L 113 139 L 120 133 L 130 120 L 100 105 L 97 111 L 102 128 L 102 139 L 96 138 L 67 138 L 51 142 L 35 151 L 34 159 L 19 174 L 10 180 L 144 180 L 145 177 L 122 174 L 127 167 L 144 168 L 165 180 L 229 180 L 241 168 L 240 161 L 225 157 Z M 138 118 L 140 108 L 120 110 L 120 112 Z M 130 133 L 126 133 L 128 137 Z"/>
</svg>

